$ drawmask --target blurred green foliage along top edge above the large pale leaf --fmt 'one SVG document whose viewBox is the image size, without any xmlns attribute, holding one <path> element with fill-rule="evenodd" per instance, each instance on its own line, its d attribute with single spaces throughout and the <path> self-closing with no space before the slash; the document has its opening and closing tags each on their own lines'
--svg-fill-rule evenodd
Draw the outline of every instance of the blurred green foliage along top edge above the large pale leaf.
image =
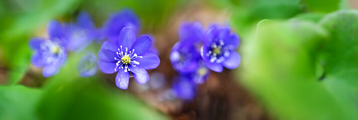
<svg viewBox="0 0 358 120">
<path fill-rule="evenodd" d="M 346 0 L 210 0 L 211 4 L 229 8 L 231 25 L 245 38 L 262 19 L 284 20 L 296 15 L 318 20 L 318 15 L 347 8 Z M 310 12 L 315 12 L 311 14 Z M 308 13 L 301 15 L 300 13 Z M 314 18 L 315 17 L 315 18 Z"/>
</svg>

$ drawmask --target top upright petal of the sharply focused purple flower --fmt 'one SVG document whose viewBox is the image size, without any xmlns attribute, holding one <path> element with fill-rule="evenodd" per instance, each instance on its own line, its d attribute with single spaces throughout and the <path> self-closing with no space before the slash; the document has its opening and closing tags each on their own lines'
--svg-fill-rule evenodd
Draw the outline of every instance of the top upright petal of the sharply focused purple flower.
<svg viewBox="0 0 358 120">
<path fill-rule="evenodd" d="M 118 46 L 123 46 L 123 48 L 131 48 L 133 43 L 136 41 L 136 34 L 133 28 L 124 27 L 119 33 Z"/>
</svg>

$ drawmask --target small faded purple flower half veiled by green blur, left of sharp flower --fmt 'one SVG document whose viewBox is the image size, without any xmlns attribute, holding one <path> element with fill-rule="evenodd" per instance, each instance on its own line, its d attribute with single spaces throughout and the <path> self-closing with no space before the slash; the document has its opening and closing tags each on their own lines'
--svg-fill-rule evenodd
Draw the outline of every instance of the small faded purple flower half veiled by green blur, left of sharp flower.
<svg viewBox="0 0 358 120">
<path fill-rule="evenodd" d="M 93 52 L 86 52 L 77 64 L 77 70 L 82 77 L 95 75 L 97 72 L 97 56 Z"/>
</svg>

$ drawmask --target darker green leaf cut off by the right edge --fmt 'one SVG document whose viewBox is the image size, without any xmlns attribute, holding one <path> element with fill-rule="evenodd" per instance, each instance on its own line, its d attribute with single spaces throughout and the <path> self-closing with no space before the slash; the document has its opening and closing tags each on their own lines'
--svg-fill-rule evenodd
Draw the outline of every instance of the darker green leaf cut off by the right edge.
<svg viewBox="0 0 358 120">
<path fill-rule="evenodd" d="M 322 83 L 340 102 L 358 109 L 358 11 L 340 10 L 325 16 L 320 25 L 331 37 L 325 43 Z"/>
</svg>

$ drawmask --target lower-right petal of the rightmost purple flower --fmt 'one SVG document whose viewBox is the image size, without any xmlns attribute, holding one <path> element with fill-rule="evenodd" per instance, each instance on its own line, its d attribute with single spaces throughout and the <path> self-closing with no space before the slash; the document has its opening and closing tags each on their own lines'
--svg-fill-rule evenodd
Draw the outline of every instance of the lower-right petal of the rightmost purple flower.
<svg viewBox="0 0 358 120">
<path fill-rule="evenodd" d="M 223 65 L 228 69 L 234 69 L 237 68 L 237 66 L 239 66 L 240 61 L 241 61 L 240 54 L 237 53 L 236 51 L 231 51 L 230 55 L 226 57 L 225 60 L 223 61 Z"/>
</svg>

